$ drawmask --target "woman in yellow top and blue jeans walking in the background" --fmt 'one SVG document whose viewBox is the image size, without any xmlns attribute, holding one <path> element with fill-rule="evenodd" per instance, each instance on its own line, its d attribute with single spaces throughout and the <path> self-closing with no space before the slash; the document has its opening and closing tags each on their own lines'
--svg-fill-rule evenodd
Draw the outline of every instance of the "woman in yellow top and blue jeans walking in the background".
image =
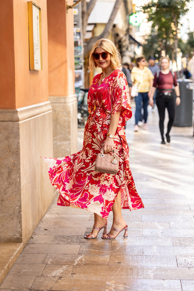
<svg viewBox="0 0 194 291">
<path fill-rule="evenodd" d="M 138 121 L 141 120 L 142 102 L 144 109 L 144 129 L 147 129 L 147 106 L 154 76 L 150 69 L 146 67 L 146 59 L 144 56 L 136 58 L 135 62 L 137 66 L 131 71 L 131 80 L 133 85 L 138 85 L 138 96 L 135 97 L 136 110 L 134 131 L 139 131 Z"/>
</svg>

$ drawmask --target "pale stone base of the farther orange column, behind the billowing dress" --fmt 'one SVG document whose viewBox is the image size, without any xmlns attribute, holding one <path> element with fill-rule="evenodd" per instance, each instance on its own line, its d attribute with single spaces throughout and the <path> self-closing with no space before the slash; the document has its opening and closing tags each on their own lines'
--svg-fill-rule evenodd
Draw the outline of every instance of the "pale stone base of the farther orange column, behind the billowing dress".
<svg viewBox="0 0 194 291">
<path fill-rule="evenodd" d="M 53 120 L 53 155 L 65 157 L 78 150 L 77 98 L 49 97 Z"/>
</svg>

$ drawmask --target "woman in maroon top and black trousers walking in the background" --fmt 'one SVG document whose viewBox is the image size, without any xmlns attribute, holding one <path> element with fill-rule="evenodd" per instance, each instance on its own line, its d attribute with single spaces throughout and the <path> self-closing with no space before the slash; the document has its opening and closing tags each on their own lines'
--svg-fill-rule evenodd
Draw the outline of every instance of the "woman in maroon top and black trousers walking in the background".
<svg viewBox="0 0 194 291">
<path fill-rule="evenodd" d="M 159 73 L 156 73 L 154 76 L 154 83 L 150 93 L 149 104 L 153 106 L 153 96 L 157 90 L 156 95 L 156 105 L 158 107 L 159 113 L 159 127 L 162 137 L 161 144 L 165 144 L 164 140 L 164 118 L 165 118 L 165 108 L 168 111 L 168 125 L 166 132 L 167 143 L 170 143 L 170 130 L 172 128 L 174 118 L 175 118 L 175 100 L 173 96 L 173 86 L 176 93 L 176 105 L 180 104 L 180 93 L 179 87 L 177 84 L 177 75 L 169 69 L 170 59 L 168 57 L 161 58 L 161 67 L 162 70 Z"/>
</svg>

